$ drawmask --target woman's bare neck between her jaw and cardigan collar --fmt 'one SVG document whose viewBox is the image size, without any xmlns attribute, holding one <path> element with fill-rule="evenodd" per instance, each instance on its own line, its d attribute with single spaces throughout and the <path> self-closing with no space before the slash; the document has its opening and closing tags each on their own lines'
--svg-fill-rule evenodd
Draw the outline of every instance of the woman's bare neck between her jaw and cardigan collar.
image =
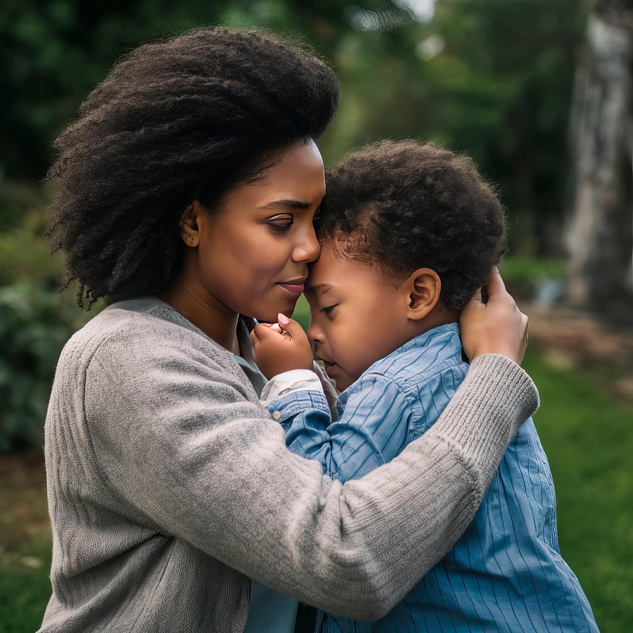
<svg viewBox="0 0 633 633">
<path fill-rule="evenodd" d="M 182 316 L 199 327 L 204 334 L 234 354 L 239 354 L 237 319 L 239 314 L 229 310 L 202 286 L 197 287 L 184 275 L 177 275 L 158 293 L 158 298 L 178 310 Z"/>
</svg>

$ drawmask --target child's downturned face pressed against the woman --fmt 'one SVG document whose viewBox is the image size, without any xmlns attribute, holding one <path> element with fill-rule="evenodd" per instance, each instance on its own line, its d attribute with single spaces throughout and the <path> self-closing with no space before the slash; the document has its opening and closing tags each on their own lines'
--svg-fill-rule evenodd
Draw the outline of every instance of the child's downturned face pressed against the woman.
<svg viewBox="0 0 633 633">
<path fill-rule="evenodd" d="M 315 358 L 343 391 L 372 363 L 408 340 L 406 302 L 370 264 L 344 260 L 324 244 L 306 280 Z M 401 306 L 403 304 L 403 306 Z"/>
</svg>

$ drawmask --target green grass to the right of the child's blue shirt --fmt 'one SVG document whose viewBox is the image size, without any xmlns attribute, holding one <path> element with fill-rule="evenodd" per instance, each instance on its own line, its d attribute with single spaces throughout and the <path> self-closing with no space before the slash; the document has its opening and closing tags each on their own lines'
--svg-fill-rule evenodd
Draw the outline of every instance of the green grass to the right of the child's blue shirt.
<svg viewBox="0 0 633 633">
<path fill-rule="evenodd" d="M 534 417 L 554 475 L 563 558 L 603 631 L 633 630 L 633 405 L 587 376 L 549 367 L 531 350 L 523 366 L 541 393 Z"/>
</svg>

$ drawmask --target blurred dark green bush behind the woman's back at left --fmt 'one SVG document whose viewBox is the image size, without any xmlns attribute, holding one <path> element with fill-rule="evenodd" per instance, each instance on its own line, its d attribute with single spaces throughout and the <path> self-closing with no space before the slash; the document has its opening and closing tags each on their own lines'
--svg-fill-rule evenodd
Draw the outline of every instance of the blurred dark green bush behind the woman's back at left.
<svg viewBox="0 0 633 633">
<path fill-rule="evenodd" d="M 92 314 L 68 294 L 26 283 L 0 287 L 0 453 L 41 446 L 61 349 Z"/>
</svg>

